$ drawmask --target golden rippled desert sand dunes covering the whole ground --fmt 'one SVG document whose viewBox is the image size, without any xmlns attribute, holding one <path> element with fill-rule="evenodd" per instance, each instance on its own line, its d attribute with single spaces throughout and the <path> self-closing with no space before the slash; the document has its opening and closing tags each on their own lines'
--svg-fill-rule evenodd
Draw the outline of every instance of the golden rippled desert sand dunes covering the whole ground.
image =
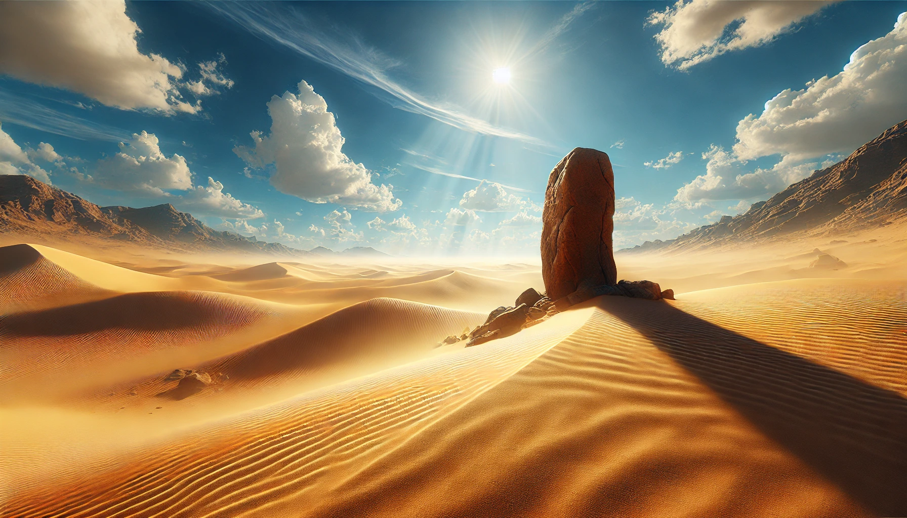
<svg viewBox="0 0 907 518">
<path fill-rule="evenodd" d="M 907 515 L 904 230 L 618 254 L 677 300 L 475 347 L 538 259 L 0 243 L 0 515 Z"/>
</svg>

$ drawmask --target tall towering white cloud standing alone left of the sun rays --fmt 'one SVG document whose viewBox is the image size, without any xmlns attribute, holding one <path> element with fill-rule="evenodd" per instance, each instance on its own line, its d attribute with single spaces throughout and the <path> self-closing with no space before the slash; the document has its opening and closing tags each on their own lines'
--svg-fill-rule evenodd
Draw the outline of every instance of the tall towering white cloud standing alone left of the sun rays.
<svg viewBox="0 0 907 518">
<path fill-rule="evenodd" d="M 273 163 L 270 181 L 278 191 L 315 203 L 338 203 L 365 210 L 397 210 L 393 186 L 372 183 L 372 174 L 341 151 L 345 142 L 325 99 L 305 81 L 299 94 L 274 95 L 268 102 L 271 132 L 252 132 L 254 148 L 233 151 L 252 167 Z"/>
</svg>

